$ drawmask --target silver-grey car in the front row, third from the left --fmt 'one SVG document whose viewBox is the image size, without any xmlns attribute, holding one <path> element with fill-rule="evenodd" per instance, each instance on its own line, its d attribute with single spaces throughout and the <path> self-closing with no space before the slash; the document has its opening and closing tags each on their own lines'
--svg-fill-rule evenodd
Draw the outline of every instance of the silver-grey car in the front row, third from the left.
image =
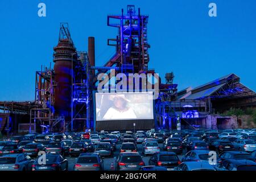
<svg viewBox="0 0 256 182">
<path fill-rule="evenodd" d="M 96 153 L 80 154 L 74 165 L 74 171 L 101 171 L 104 161 Z"/>
</svg>

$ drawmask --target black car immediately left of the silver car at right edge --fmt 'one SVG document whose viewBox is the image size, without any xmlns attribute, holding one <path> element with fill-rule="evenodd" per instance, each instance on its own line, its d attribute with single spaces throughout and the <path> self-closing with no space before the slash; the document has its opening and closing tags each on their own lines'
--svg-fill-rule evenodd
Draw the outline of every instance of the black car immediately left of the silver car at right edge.
<svg viewBox="0 0 256 182">
<path fill-rule="evenodd" d="M 215 140 L 212 144 L 209 145 L 209 150 L 216 151 L 221 153 L 228 150 L 234 150 L 234 145 L 226 140 Z"/>
</svg>

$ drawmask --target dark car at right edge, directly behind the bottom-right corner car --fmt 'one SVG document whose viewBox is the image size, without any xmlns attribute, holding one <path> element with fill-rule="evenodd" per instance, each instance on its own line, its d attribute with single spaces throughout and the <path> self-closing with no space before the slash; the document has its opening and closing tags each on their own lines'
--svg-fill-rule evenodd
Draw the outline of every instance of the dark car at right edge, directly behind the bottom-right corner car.
<svg viewBox="0 0 256 182">
<path fill-rule="evenodd" d="M 247 159 L 247 160 L 255 160 L 253 155 L 249 154 L 248 152 L 243 151 L 225 151 L 220 154 L 221 160 L 226 159 Z"/>
</svg>

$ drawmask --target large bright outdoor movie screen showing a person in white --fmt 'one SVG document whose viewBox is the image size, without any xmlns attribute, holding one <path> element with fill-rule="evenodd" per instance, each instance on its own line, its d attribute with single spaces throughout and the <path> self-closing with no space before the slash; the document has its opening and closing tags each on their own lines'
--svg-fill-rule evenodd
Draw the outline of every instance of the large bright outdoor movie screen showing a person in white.
<svg viewBox="0 0 256 182">
<path fill-rule="evenodd" d="M 96 121 L 154 119 L 152 92 L 96 93 Z"/>
</svg>

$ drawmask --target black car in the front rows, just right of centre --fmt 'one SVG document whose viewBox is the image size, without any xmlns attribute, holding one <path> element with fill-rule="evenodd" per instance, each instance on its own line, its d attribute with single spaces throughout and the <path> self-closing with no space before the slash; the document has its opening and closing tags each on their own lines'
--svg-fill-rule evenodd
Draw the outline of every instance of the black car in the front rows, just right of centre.
<svg viewBox="0 0 256 182">
<path fill-rule="evenodd" d="M 180 159 L 174 152 L 155 153 L 148 160 L 150 166 L 163 166 L 166 167 L 167 170 L 174 170 L 180 163 Z"/>
</svg>

